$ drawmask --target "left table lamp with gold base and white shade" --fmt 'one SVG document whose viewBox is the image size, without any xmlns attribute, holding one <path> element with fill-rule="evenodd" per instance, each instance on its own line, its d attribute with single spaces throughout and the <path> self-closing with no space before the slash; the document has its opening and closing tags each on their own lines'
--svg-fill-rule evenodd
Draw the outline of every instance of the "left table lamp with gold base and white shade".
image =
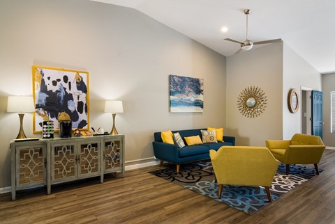
<svg viewBox="0 0 335 224">
<path fill-rule="evenodd" d="M 12 96 L 8 97 L 7 112 L 19 112 L 20 131 L 16 139 L 27 138 L 23 131 L 23 116 L 24 112 L 34 112 L 33 97 Z"/>
</svg>

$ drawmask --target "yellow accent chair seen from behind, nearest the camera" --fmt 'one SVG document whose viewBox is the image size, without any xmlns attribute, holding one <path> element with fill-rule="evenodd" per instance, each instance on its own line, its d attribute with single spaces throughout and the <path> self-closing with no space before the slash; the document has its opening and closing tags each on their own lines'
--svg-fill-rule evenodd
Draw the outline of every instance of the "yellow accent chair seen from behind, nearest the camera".
<svg viewBox="0 0 335 224">
<path fill-rule="evenodd" d="M 222 146 L 218 151 L 210 150 L 218 198 L 221 198 L 223 184 L 244 186 L 265 186 L 271 202 L 271 186 L 279 165 L 267 147 Z"/>
</svg>

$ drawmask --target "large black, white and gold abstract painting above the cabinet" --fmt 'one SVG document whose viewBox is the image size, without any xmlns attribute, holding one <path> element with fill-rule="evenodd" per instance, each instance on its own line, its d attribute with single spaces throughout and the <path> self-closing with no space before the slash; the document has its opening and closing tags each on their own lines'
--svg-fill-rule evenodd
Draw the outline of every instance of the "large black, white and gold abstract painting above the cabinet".
<svg viewBox="0 0 335 224">
<path fill-rule="evenodd" d="M 43 121 L 71 120 L 73 129 L 89 129 L 89 72 L 34 65 L 34 133 L 42 132 Z"/>
</svg>

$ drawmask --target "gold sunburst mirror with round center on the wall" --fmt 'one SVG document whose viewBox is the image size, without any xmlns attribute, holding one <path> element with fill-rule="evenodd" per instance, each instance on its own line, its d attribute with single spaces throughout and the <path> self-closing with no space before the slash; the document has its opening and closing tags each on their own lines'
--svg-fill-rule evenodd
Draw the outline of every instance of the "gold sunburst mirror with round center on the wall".
<svg viewBox="0 0 335 224">
<path fill-rule="evenodd" d="M 239 93 L 237 108 L 247 118 L 258 117 L 267 108 L 267 96 L 261 88 L 248 86 Z"/>
</svg>

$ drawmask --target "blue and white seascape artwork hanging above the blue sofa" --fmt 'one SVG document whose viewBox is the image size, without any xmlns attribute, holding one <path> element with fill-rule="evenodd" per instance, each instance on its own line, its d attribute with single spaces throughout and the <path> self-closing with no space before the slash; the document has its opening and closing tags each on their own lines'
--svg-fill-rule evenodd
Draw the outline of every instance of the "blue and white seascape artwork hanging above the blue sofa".
<svg viewBox="0 0 335 224">
<path fill-rule="evenodd" d="M 170 74 L 170 112 L 204 111 L 204 79 Z"/>
</svg>

